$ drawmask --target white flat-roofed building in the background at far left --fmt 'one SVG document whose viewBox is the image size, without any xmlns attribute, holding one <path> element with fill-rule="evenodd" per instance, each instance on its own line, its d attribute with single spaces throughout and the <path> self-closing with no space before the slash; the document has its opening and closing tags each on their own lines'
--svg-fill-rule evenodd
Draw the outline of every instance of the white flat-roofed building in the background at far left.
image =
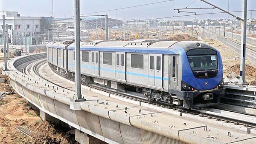
<svg viewBox="0 0 256 144">
<path fill-rule="evenodd" d="M 24 45 L 25 29 L 28 45 L 33 45 L 35 34 L 45 34 L 45 29 L 52 28 L 52 17 L 21 17 L 17 11 L 0 11 L 0 37 L 3 35 L 3 15 L 8 24 L 9 43 L 13 45 Z M 37 44 L 40 43 L 41 40 L 37 40 Z"/>
</svg>

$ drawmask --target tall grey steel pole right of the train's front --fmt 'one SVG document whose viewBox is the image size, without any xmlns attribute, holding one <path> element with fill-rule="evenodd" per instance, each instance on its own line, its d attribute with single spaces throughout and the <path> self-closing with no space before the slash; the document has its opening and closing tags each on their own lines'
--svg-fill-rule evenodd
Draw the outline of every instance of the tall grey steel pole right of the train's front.
<svg viewBox="0 0 256 144">
<path fill-rule="evenodd" d="M 241 23 L 241 55 L 240 55 L 240 79 L 239 82 L 244 84 L 245 81 L 245 55 L 246 55 L 246 19 L 247 19 L 247 0 L 243 0 Z"/>
</svg>

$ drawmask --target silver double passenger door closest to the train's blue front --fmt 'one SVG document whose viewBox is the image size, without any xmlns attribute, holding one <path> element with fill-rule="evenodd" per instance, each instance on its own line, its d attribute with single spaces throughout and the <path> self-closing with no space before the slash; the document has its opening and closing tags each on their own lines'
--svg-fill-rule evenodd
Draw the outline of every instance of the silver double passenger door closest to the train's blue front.
<svg viewBox="0 0 256 144">
<path fill-rule="evenodd" d="M 162 88 L 163 83 L 163 55 L 148 54 L 148 85 Z"/>
</svg>

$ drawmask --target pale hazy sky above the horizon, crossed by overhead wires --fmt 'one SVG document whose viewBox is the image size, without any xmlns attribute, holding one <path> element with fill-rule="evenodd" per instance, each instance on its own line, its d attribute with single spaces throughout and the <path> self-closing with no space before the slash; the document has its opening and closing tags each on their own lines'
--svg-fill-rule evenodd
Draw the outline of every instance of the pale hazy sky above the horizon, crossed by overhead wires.
<svg viewBox="0 0 256 144">
<path fill-rule="evenodd" d="M 161 1 L 165 0 L 80 0 L 80 14 L 137 6 Z M 74 15 L 74 0 L 53 0 L 53 2 L 54 17 L 68 18 Z M 227 11 L 240 11 L 242 9 L 242 0 L 207 0 L 207 2 L 213 3 Z M 174 3 L 174 6 L 172 3 Z M 174 0 L 173 2 L 168 1 L 148 6 L 93 13 L 93 15 L 109 14 L 109 17 L 117 18 L 119 20 L 145 20 L 159 17 L 187 15 L 189 13 L 180 12 L 180 14 L 178 14 L 177 10 L 173 10 L 173 8 L 186 8 L 186 6 L 188 6 L 188 8 L 211 7 L 201 0 Z M 256 0 L 248 0 L 248 10 L 252 9 L 256 9 Z M 0 11 L 18 11 L 20 16 L 52 16 L 52 0 L 0 0 Z M 217 8 L 186 11 L 196 12 L 197 14 L 220 12 L 220 10 Z M 233 14 L 241 17 L 241 12 L 236 12 Z M 247 17 L 250 18 L 250 12 L 247 13 Z M 256 11 L 252 12 L 252 17 L 256 17 Z M 228 14 L 207 14 L 160 20 L 191 20 L 193 18 L 219 19 L 232 17 Z"/>
</svg>

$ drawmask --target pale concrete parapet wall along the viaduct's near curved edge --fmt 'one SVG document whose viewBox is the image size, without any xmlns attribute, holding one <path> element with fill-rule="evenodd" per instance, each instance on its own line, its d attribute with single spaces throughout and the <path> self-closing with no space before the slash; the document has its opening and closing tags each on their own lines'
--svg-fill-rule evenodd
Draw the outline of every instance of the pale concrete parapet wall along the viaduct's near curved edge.
<svg viewBox="0 0 256 144">
<path fill-rule="evenodd" d="M 6 71 L 17 93 L 44 113 L 102 141 L 120 144 L 196 144 L 198 139 L 202 144 L 224 144 L 256 138 L 246 134 L 239 138 L 227 137 L 226 131 L 222 132 L 217 128 L 211 128 L 212 131 L 208 132 L 205 131 L 207 127 L 205 124 L 160 113 L 148 107 L 117 100 L 111 101 L 112 98 L 107 96 L 106 99 L 98 99 L 86 95 L 87 101 L 79 102 L 81 110 L 71 110 L 70 100 L 73 91 L 57 89 L 58 86 L 41 79 L 36 74 L 34 77 L 26 76 L 15 69 L 13 63 L 27 57 L 29 56 L 12 59 L 9 62 L 10 71 Z M 105 95 L 109 96 L 109 94 Z M 197 133 L 191 134 L 191 131 Z M 216 136 L 218 134 L 220 139 L 211 139 L 205 133 Z"/>
</svg>

